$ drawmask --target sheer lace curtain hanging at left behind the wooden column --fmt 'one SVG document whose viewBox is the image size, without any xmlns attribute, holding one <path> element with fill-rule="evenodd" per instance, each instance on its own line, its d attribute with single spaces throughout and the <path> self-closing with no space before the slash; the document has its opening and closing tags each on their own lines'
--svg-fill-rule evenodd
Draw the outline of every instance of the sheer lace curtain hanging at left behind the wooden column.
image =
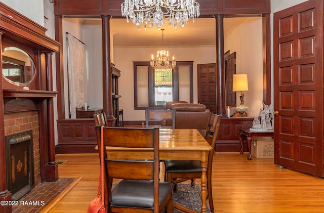
<svg viewBox="0 0 324 213">
<path fill-rule="evenodd" d="M 69 108 L 71 118 L 75 118 L 75 107 L 83 107 L 88 101 L 86 48 L 73 35 L 67 33 L 66 37 Z"/>
</svg>

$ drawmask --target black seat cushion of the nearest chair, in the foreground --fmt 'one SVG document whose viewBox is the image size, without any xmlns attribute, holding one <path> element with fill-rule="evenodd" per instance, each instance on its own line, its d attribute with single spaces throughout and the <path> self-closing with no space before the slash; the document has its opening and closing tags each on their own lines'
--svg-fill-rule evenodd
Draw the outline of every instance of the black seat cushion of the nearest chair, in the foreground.
<svg viewBox="0 0 324 213">
<path fill-rule="evenodd" d="M 159 205 L 172 190 L 172 183 L 159 183 Z M 111 205 L 153 208 L 153 181 L 120 181 L 113 188 L 111 198 Z"/>
</svg>

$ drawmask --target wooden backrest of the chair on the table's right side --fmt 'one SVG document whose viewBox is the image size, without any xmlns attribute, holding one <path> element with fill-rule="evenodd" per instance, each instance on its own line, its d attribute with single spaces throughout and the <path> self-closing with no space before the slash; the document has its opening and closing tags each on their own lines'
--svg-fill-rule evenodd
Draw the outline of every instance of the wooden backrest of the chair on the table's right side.
<svg viewBox="0 0 324 213">
<path fill-rule="evenodd" d="M 211 113 L 208 121 L 208 125 L 206 127 L 205 139 L 213 148 L 208 155 L 208 166 L 212 165 L 213 163 L 213 156 L 215 152 L 216 146 L 216 138 L 218 135 L 219 126 L 221 123 L 221 116 Z"/>
</svg>

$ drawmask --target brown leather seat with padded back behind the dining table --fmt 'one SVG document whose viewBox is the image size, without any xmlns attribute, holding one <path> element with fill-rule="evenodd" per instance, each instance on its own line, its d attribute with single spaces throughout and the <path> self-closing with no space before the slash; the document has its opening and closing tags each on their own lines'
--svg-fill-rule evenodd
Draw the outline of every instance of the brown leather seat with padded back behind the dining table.
<svg viewBox="0 0 324 213">
<path fill-rule="evenodd" d="M 176 110 L 176 129 L 197 129 L 205 134 L 211 112 L 204 104 L 175 103 L 170 109 Z"/>
</svg>

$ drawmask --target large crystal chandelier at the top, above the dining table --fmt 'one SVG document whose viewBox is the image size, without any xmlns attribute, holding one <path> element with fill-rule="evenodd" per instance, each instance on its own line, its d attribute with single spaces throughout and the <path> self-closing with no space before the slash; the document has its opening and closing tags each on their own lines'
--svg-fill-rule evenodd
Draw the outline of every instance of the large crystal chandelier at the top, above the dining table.
<svg viewBox="0 0 324 213">
<path fill-rule="evenodd" d="M 121 3 L 121 15 L 126 16 L 127 22 L 132 19 L 138 29 L 140 24 L 144 24 L 145 29 L 146 25 L 160 29 L 163 23 L 182 28 L 190 18 L 194 22 L 200 12 L 195 0 L 125 0 Z"/>
</svg>

